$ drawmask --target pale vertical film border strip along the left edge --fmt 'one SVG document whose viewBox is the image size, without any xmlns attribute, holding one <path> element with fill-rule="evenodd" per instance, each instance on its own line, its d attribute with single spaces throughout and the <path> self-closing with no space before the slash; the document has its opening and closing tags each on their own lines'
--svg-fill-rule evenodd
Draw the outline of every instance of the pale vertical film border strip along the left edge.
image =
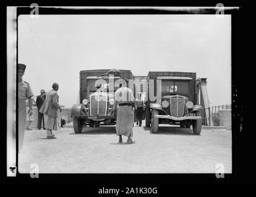
<svg viewBox="0 0 256 197">
<path fill-rule="evenodd" d="M 17 7 L 7 7 L 7 177 L 15 177 L 16 166 L 16 58 Z M 12 172 L 10 167 L 16 167 Z"/>
</svg>

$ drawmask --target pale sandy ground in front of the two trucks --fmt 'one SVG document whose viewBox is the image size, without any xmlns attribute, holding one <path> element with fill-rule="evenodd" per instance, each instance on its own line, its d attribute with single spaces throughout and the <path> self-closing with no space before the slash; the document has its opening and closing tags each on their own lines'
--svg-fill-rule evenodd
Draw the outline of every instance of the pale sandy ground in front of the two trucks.
<svg viewBox="0 0 256 197">
<path fill-rule="evenodd" d="M 145 123 L 143 123 L 145 125 Z M 75 134 L 72 126 L 46 139 L 41 130 L 25 131 L 19 153 L 19 172 L 29 173 L 215 173 L 216 164 L 232 172 L 232 138 L 226 129 L 192 129 L 160 126 L 158 134 L 134 127 L 134 143 L 118 143 L 114 126 L 85 127 Z M 30 168 L 31 167 L 31 168 Z"/>
</svg>

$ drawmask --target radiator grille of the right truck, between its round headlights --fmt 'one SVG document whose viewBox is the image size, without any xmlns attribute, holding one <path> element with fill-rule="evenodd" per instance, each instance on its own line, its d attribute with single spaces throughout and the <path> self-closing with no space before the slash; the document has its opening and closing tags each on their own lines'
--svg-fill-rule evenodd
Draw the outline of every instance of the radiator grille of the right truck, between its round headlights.
<svg viewBox="0 0 256 197">
<path fill-rule="evenodd" d="M 177 118 L 184 116 L 185 100 L 186 99 L 182 97 L 170 98 L 171 116 L 174 116 Z"/>
</svg>

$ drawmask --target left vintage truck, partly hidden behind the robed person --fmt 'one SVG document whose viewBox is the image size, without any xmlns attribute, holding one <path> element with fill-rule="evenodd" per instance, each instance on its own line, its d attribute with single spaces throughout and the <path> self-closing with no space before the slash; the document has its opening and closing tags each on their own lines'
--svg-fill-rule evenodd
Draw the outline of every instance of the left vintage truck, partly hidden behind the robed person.
<svg viewBox="0 0 256 197">
<path fill-rule="evenodd" d="M 95 84 L 99 79 L 103 79 L 105 82 Z M 113 91 L 110 91 L 109 82 L 116 82 L 119 79 L 134 79 L 134 75 L 130 70 L 80 71 L 80 102 L 71 108 L 75 133 L 82 132 L 83 125 L 98 127 L 116 124 L 113 104 L 114 92 L 119 86 L 115 86 Z M 101 91 L 98 90 L 99 87 L 101 87 Z"/>
</svg>

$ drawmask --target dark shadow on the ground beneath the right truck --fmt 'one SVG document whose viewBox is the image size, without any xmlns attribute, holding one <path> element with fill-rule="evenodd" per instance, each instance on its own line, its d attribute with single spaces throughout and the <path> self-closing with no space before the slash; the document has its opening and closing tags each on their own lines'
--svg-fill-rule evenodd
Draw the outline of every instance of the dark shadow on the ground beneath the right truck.
<svg viewBox="0 0 256 197">
<path fill-rule="evenodd" d="M 150 127 L 143 127 L 144 131 L 150 132 Z M 181 128 L 176 126 L 158 127 L 158 132 L 152 135 L 194 135 L 191 128 Z M 197 136 L 197 135 L 194 135 Z"/>
</svg>

